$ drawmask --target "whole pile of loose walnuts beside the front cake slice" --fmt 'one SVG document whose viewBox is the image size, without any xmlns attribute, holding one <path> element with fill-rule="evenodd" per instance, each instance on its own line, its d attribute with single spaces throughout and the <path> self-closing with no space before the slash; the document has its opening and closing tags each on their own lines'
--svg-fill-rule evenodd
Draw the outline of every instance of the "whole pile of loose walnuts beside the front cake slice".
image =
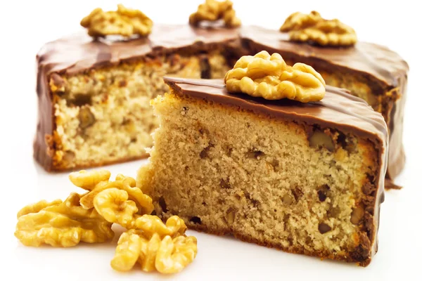
<svg viewBox="0 0 422 281">
<path fill-rule="evenodd" d="M 186 224 L 178 216 L 163 223 L 151 216 L 153 202 L 136 188 L 134 178 L 110 172 L 79 171 L 70 181 L 87 190 L 72 192 L 62 202 L 30 204 L 18 212 L 15 237 L 25 246 L 72 247 L 79 242 L 105 242 L 113 238 L 113 223 L 128 230 L 120 236 L 111 266 L 127 271 L 136 262 L 144 271 L 178 273 L 196 257 L 196 237 L 186 237 Z"/>
</svg>

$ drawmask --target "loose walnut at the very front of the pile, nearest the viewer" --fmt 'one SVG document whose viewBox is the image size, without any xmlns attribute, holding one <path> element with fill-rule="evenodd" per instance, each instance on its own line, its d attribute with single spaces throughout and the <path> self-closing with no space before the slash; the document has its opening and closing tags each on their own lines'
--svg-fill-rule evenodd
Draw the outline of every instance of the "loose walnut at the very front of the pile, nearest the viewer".
<svg viewBox="0 0 422 281">
<path fill-rule="evenodd" d="M 111 266 L 127 271 L 137 261 L 146 272 L 178 273 L 195 259 L 197 251 L 196 237 L 181 234 L 172 238 L 154 233 L 148 238 L 141 230 L 127 230 L 117 242 Z"/>
</svg>

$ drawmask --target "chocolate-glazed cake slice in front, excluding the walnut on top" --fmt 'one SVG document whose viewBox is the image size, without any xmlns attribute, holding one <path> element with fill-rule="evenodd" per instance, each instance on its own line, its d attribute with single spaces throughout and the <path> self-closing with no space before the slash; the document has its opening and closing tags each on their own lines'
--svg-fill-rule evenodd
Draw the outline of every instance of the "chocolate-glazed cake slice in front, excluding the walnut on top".
<svg viewBox="0 0 422 281">
<path fill-rule="evenodd" d="M 137 185 L 161 218 L 291 253 L 357 262 L 376 253 L 388 133 L 343 89 L 299 103 L 165 78 L 160 127 Z"/>
</svg>

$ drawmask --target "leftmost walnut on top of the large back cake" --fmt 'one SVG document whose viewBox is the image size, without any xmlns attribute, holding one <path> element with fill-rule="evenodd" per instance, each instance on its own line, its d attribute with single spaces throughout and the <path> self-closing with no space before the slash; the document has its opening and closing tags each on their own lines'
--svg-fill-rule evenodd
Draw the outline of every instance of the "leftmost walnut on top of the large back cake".
<svg viewBox="0 0 422 281">
<path fill-rule="evenodd" d="M 96 8 L 81 20 L 81 25 L 88 29 L 91 37 L 122 35 L 131 37 L 135 34 L 146 37 L 151 33 L 153 21 L 139 10 L 117 5 L 117 11 L 104 12 Z"/>
</svg>

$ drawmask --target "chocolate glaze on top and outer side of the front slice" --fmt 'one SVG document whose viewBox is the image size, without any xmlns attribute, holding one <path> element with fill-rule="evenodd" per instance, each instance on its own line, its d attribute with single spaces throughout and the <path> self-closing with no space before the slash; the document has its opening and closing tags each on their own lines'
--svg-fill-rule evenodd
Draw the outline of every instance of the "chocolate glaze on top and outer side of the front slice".
<svg viewBox="0 0 422 281">
<path fill-rule="evenodd" d="M 304 122 L 308 125 L 319 124 L 322 128 L 339 129 L 371 140 L 379 153 L 379 174 L 377 188 L 371 195 L 375 200 L 371 200 L 373 205 L 366 208 L 373 210 L 371 256 L 376 253 L 379 209 L 384 198 L 384 178 L 388 162 L 388 128 L 380 113 L 374 111 L 361 98 L 352 96 L 349 91 L 331 86 L 326 86 L 326 95 L 321 101 L 300 103 L 294 100 L 264 100 L 242 93 L 228 93 L 222 79 L 164 79 L 174 93 L 179 95 L 231 105 L 269 117 Z M 364 262 L 363 265 L 367 263 Z"/>
</svg>

